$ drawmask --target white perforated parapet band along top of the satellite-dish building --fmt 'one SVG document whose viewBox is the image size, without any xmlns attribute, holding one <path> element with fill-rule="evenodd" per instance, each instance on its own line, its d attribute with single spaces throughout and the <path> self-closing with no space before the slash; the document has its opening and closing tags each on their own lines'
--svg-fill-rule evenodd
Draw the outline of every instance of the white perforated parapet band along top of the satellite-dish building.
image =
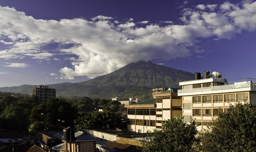
<svg viewBox="0 0 256 152">
<path fill-rule="evenodd" d="M 256 91 L 256 83 L 239 83 L 232 85 L 220 85 L 213 87 L 202 87 L 194 89 L 178 90 L 178 96 L 193 96 L 202 94 L 228 93 L 240 91 Z"/>
</svg>

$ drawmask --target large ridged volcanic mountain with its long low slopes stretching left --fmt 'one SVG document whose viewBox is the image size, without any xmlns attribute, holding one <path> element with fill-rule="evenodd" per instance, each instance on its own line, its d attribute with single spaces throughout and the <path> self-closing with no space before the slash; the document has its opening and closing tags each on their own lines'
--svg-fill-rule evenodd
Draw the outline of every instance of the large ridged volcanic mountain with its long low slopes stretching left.
<svg viewBox="0 0 256 152">
<path fill-rule="evenodd" d="M 161 87 L 180 88 L 180 81 L 193 80 L 194 74 L 154 64 L 150 61 L 130 63 L 112 73 L 79 83 L 57 83 L 57 96 L 87 96 L 90 98 L 112 98 L 131 96 L 140 99 L 152 97 L 152 89 Z M 0 87 L 0 91 L 31 94 L 36 85 Z"/>
</svg>

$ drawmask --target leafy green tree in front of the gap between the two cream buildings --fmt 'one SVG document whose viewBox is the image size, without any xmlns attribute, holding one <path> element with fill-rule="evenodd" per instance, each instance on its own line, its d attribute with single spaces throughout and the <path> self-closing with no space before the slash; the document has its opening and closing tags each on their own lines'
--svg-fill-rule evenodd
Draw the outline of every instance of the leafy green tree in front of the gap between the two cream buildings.
<svg viewBox="0 0 256 152">
<path fill-rule="evenodd" d="M 162 123 L 162 130 L 147 133 L 142 139 L 141 151 L 192 151 L 192 145 L 197 133 L 195 126 L 190 126 L 182 119 L 166 120 Z"/>
</svg>

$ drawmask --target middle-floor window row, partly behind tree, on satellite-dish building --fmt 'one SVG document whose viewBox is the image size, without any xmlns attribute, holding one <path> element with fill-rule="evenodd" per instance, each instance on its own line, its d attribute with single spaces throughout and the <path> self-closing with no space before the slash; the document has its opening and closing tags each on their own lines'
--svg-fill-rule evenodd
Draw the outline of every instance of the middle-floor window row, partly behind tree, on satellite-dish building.
<svg viewBox="0 0 256 152">
<path fill-rule="evenodd" d="M 193 109 L 193 116 L 219 116 L 219 111 L 222 109 Z M 224 112 L 227 112 L 227 108 L 224 109 Z"/>
</svg>

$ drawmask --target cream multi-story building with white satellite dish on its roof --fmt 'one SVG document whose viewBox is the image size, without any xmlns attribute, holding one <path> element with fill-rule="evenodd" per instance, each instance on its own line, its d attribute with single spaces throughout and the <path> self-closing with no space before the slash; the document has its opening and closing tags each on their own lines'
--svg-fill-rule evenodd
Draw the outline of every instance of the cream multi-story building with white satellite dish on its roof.
<svg viewBox="0 0 256 152">
<path fill-rule="evenodd" d="M 178 96 L 182 96 L 184 122 L 196 125 L 200 131 L 207 129 L 218 116 L 218 110 L 226 111 L 230 104 L 249 102 L 256 105 L 256 83 L 224 83 L 227 83 L 226 79 L 207 77 L 179 82 L 182 89 L 178 90 Z"/>
</svg>

